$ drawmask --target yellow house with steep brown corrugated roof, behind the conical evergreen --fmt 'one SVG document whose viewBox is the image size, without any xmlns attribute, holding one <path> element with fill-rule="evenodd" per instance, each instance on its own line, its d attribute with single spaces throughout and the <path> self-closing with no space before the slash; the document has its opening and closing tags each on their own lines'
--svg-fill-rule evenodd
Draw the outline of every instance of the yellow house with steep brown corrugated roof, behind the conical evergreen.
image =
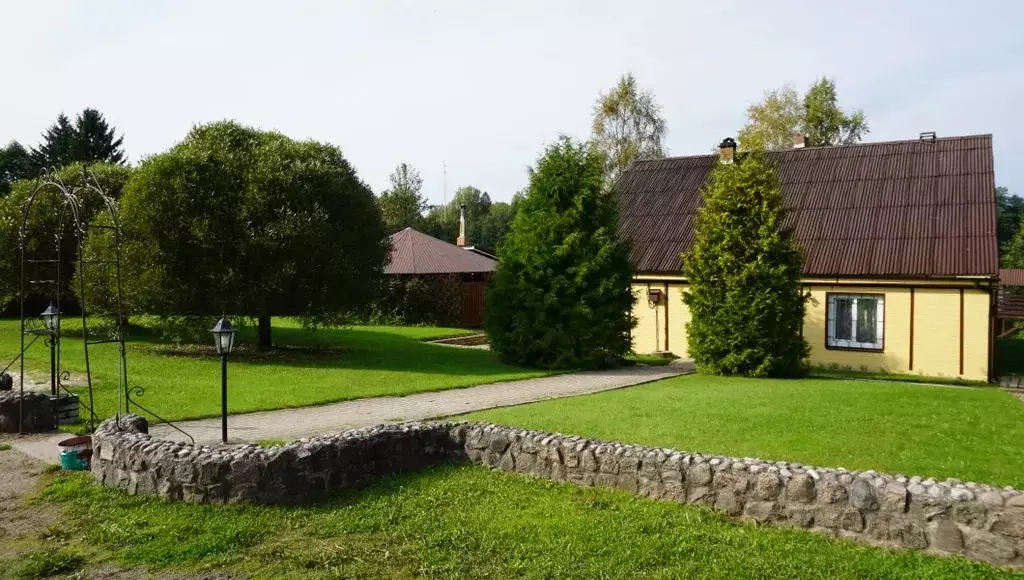
<svg viewBox="0 0 1024 580">
<path fill-rule="evenodd" d="M 998 253 L 991 135 L 766 154 L 805 252 L 816 367 L 992 378 Z M 686 358 L 680 256 L 720 155 L 634 162 L 615 187 L 633 246 L 633 346 Z"/>
</svg>

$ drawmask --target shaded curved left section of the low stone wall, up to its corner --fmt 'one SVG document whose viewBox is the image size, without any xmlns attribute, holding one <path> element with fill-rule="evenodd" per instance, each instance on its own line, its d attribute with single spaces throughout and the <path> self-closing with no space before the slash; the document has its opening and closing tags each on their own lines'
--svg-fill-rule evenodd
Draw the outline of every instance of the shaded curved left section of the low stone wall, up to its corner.
<svg viewBox="0 0 1024 580">
<path fill-rule="evenodd" d="M 130 494 L 207 503 L 299 503 L 387 473 L 426 467 L 455 454 L 449 425 L 380 425 L 293 443 L 194 447 L 146 434 L 128 415 L 92 436 L 92 474 Z"/>
</svg>

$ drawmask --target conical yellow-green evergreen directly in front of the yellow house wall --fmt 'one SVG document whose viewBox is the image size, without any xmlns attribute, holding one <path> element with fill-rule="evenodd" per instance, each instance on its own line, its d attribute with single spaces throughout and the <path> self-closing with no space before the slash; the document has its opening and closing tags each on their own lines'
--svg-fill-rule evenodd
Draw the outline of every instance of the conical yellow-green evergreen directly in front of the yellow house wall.
<svg viewBox="0 0 1024 580">
<path fill-rule="evenodd" d="M 782 196 L 761 154 L 713 170 L 684 256 L 690 286 L 689 354 L 701 372 L 793 376 L 808 354 L 801 336 L 803 255 L 782 226 Z"/>
</svg>

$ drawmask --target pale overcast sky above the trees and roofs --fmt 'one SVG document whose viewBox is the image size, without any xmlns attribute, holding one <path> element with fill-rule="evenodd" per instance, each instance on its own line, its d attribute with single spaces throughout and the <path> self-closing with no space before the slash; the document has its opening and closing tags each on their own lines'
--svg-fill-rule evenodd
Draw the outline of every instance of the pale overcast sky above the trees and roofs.
<svg viewBox="0 0 1024 580">
<path fill-rule="evenodd" d="M 236 119 L 342 148 L 379 192 L 407 161 L 432 202 L 507 200 L 545 143 L 585 138 L 627 71 L 671 155 L 735 134 L 766 89 L 833 77 L 866 140 L 993 133 L 1024 194 L 1024 2 L 3 0 L 0 141 L 102 112 L 133 161 Z"/>
</svg>

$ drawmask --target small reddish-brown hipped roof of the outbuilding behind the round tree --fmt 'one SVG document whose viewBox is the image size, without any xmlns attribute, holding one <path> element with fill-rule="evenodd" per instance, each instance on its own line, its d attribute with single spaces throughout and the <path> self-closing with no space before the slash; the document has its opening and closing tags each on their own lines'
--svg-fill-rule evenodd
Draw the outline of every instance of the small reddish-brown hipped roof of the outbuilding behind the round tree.
<svg viewBox="0 0 1024 580">
<path fill-rule="evenodd" d="M 384 274 L 473 274 L 494 272 L 498 262 L 407 227 L 391 235 Z"/>
</svg>

